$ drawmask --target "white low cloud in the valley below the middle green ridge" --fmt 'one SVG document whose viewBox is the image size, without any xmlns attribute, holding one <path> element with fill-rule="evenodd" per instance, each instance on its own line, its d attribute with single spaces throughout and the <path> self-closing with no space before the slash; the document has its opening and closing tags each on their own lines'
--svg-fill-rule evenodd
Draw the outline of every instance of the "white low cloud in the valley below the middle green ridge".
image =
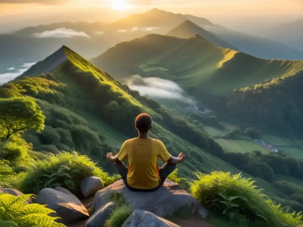
<svg viewBox="0 0 303 227">
<path fill-rule="evenodd" d="M 129 88 L 137 90 L 141 95 L 147 95 L 151 98 L 176 99 L 186 103 L 194 101 L 187 98 L 184 90 L 175 82 L 164 80 L 157 77 L 142 78 L 134 75 L 126 82 Z"/>
</svg>

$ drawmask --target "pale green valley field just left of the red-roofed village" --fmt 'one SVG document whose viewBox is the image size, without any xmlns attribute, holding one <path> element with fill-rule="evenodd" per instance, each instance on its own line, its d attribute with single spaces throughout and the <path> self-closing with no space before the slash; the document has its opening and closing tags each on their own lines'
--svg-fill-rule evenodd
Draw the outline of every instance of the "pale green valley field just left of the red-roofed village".
<svg viewBox="0 0 303 227">
<path fill-rule="evenodd" d="M 255 150 L 268 154 L 271 150 L 247 140 L 216 139 L 226 152 L 249 153 Z"/>
</svg>

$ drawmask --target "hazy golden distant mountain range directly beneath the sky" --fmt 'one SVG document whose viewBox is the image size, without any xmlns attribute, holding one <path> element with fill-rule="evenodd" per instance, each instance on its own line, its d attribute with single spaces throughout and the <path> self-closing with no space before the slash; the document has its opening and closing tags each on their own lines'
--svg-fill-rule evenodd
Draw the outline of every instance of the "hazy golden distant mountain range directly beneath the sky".
<svg viewBox="0 0 303 227">
<path fill-rule="evenodd" d="M 61 22 L 24 28 L 10 35 L 0 35 L 0 62 L 12 64 L 17 58 L 38 61 L 62 45 L 68 45 L 86 58 L 91 58 L 122 41 L 147 34 L 165 35 L 171 32 L 173 35 L 173 32 L 178 30 L 182 30 L 182 36 L 192 36 L 197 32 L 215 45 L 240 50 L 259 58 L 303 58 L 301 52 L 276 41 L 236 32 L 215 25 L 205 18 L 174 14 L 155 8 L 113 23 Z M 176 35 L 178 36 L 177 33 Z"/>
</svg>

